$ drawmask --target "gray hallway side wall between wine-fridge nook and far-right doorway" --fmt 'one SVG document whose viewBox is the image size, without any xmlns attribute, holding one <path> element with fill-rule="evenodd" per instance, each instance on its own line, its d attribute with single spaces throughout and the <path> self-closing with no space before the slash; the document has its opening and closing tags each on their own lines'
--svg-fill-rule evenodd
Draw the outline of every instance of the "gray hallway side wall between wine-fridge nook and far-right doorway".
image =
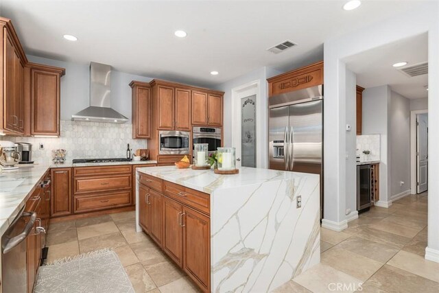
<svg viewBox="0 0 439 293">
<path fill-rule="evenodd" d="M 393 91 L 389 123 L 390 195 L 393 197 L 410 190 L 410 100 Z"/>
</svg>

